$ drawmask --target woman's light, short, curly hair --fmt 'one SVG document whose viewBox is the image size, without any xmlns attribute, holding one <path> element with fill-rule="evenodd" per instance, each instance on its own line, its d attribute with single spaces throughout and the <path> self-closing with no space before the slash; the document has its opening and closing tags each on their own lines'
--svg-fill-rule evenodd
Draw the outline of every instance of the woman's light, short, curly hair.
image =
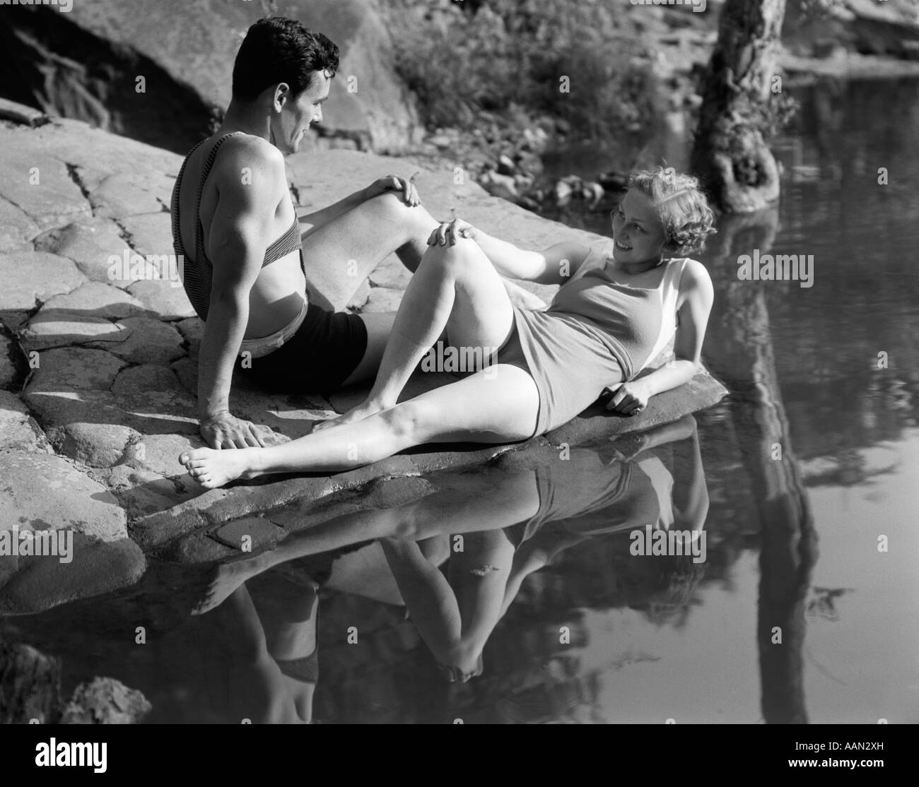
<svg viewBox="0 0 919 787">
<path fill-rule="evenodd" d="M 692 175 L 677 173 L 673 167 L 640 170 L 630 175 L 629 187 L 652 200 L 676 256 L 702 251 L 706 239 L 717 231 L 715 213 Z"/>
</svg>

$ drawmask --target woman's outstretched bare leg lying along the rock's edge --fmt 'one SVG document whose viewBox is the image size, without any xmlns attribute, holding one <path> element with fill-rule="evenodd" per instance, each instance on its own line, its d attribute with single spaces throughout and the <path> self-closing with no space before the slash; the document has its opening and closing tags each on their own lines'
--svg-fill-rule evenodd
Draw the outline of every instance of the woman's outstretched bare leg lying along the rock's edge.
<svg viewBox="0 0 919 787">
<path fill-rule="evenodd" d="M 267 448 L 199 448 L 179 461 L 203 486 L 269 473 L 336 472 L 425 443 L 510 443 L 536 431 L 539 392 L 517 366 L 495 364 L 364 421 Z"/>
</svg>

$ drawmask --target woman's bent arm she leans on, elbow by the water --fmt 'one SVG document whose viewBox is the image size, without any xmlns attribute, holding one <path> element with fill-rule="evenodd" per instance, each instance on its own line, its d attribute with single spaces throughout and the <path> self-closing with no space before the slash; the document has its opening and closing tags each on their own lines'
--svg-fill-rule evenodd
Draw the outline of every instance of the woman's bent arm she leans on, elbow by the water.
<svg viewBox="0 0 919 787">
<path fill-rule="evenodd" d="M 683 305 L 678 311 L 674 360 L 655 369 L 650 375 L 623 383 L 607 403 L 607 410 L 625 414 L 630 414 L 636 408 L 643 410 L 652 396 L 683 385 L 698 371 L 715 291 L 709 272 L 696 260 L 690 260 L 683 271 L 680 298 L 683 298 Z"/>
</svg>

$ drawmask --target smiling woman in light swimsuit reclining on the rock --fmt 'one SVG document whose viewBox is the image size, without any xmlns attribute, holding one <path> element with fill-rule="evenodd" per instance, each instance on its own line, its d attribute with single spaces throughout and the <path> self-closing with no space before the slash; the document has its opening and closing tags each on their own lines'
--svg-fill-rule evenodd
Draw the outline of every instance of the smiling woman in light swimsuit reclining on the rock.
<svg viewBox="0 0 919 787">
<path fill-rule="evenodd" d="M 266 448 L 179 457 L 203 486 L 268 473 L 334 472 L 424 443 L 508 443 L 569 421 L 614 388 L 607 409 L 634 415 L 698 368 L 713 299 L 708 272 L 676 256 L 698 249 L 713 214 L 695 178 L 636 173 L 613 211 L 613 248 L 576 242 L 522 251 L 461 219 L 441 224 L 405 291 L 368 399 L 326 428 Z M 512 306 L 501 275 L 560 284 L 549 309 Z M 396 403 L 446 332 L 471 350 L 497 347 L 484 367 Z M 675 332 L 675 361 L 636 375 Z"/>
</svg>

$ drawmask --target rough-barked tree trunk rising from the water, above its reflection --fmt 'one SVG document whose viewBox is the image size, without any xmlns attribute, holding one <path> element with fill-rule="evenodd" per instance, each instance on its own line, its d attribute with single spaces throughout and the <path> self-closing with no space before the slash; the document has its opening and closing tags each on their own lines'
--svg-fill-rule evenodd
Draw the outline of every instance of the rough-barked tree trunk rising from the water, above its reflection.
<svg viewBox="0 0 919 787">
<path fill-rule="evenodd" d="M 751 213 L 778 198 L 767 146 L 785 0 L 727 0 L 702 88 L 692 165 L 719 207 Z M 774 92 L 775 91 L 775 92 Z"/>
</svg>

